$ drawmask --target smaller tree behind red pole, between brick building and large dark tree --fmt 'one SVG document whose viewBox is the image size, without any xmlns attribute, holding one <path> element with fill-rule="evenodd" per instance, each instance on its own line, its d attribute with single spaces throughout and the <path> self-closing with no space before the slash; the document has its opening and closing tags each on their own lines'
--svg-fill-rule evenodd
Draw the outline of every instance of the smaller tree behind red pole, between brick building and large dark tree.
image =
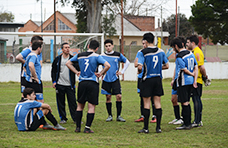
<svg viewBox="0 0 228 148">
<path fill-rule="evenodd" d="M 188 19 L 186 18 L 185 14 L 178 14 L 180 19 L 180 27 L 179 27 L 179 36 L 190 36 L 192 34 L 192 26 Z M 162 22 L 163 31 L 168 31 L 169 41 L 171 41 L 175 37 L 175 22 L 176 22 L 176 15 L 172 14 L 167 20 Z"/>
</svg>

